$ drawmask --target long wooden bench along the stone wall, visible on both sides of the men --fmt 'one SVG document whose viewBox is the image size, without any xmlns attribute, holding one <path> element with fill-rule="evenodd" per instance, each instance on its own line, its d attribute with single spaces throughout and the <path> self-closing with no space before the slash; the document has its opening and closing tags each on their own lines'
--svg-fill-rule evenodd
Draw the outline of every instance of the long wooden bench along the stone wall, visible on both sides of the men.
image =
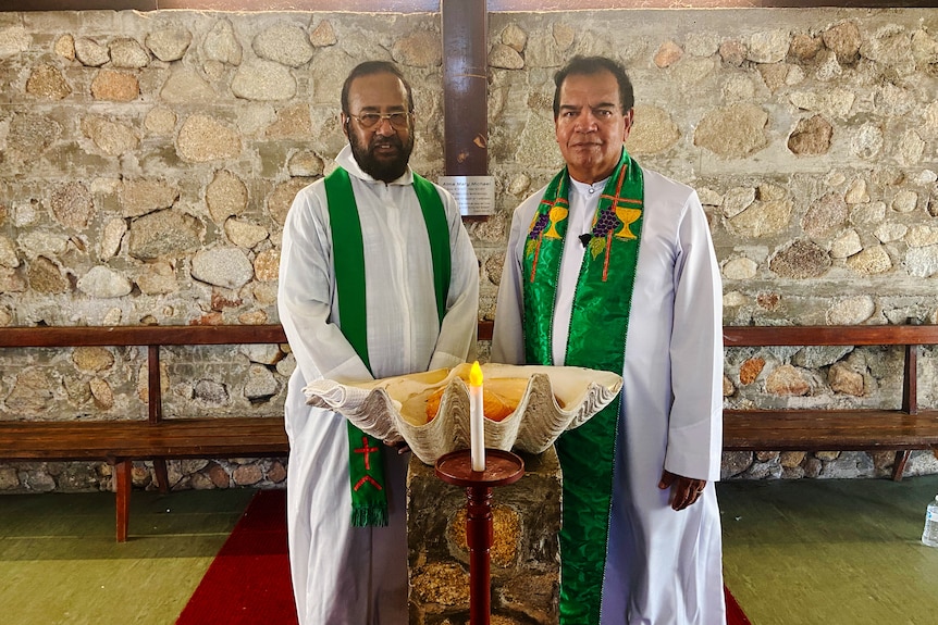
<svg viewBox="0 0 938 625">
<path fill-rule="evenodd" d="M 491 337 L 492 323 L 480 322 L 480 340 Z M 149 376 L 147 421 L 0 422 L 0 460 L 110 463 L 116 537 L 125 541 L 134 460 L 152 460 L 165 489 L 168 459 L 285 457 L 289 449 L 282 415 L 163 418 L 160 348 L 284 342 L 280 325 L 0 328 L 0 348 L 144 346 Z M 724 345 L 900 346 L 905 352 L 901 409 L 727 409 L 727 451 L 896 451 L 893 479 L 900 479 L 912 450 L 938 448 L 938 411 L 920 411 L 916 397 L 918 346 L 938 345 L 938 326 L 727 326 Z"/>
</svg>

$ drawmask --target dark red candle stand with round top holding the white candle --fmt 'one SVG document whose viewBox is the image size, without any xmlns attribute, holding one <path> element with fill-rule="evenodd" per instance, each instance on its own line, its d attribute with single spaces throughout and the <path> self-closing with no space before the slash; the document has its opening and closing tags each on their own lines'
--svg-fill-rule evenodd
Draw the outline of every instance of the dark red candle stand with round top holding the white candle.
<svg viewBox="0 0 938 625">
<path fill-rule="evenodd" d="M 466 545 L 469 548 L 469 623 L 489 625 L 492 610 L 492 488 L 507 486 L 524 475 L 524 461 L 510 451 L 485 450 L 485 470 L 472 471 L 468 449 L 440 457 L 436 477 L 466 488 Z"/>
</svg>

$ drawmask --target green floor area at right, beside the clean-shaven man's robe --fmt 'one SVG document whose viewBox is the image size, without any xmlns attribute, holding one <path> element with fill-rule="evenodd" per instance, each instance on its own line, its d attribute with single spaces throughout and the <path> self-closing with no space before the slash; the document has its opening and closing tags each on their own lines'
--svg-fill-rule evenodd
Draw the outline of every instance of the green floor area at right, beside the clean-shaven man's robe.
<svg viewBox="0 0 938 625">
<path fill-rule="evenodd" d="M 727 587 L 754 625 L 938 624 L 938 476 L 718 487 Z"/>
</svg>

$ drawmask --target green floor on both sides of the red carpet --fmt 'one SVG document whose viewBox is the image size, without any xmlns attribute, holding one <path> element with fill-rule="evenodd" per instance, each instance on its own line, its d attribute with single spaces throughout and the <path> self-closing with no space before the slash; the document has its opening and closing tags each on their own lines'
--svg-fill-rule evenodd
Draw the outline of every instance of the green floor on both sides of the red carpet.
<svg viewBox="0 0 938 625">
<path fill-rule="evenodd" d="M 938 623 L 938 476 L 719 485 L 727 586 L 754 625 Z M 252 490 L 0 496 L 0 623 L 172 625 Z"/>
</svg>

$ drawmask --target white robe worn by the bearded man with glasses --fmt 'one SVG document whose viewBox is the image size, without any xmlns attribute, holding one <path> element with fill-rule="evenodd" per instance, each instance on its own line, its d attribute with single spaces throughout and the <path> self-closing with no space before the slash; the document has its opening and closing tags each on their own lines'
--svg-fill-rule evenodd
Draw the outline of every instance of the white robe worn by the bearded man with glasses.
<svg viewBox="0 0 938 625">
<path fill-rule="evenodd" d="M 408 170 L 385 185 L 346 148 L 361 221 L 368 355 L 375 378 L 452 367 L 474 354 L 479 265 L 453 198 L 437 187 L 449 225 L 452 272 L 440 328 L 430 242 Z M 387 527 L 351 527 L 346 421 L 306 404 L 316 379 L 371 379 L 342 335 L 323 180 L 300 190 L 286 217 L 280 260 L 280 321 L 296 357 L 285 404 L 291 454 L 291 571 L 303 625 L 407 623 L 405 479 L 409 454 L 385 448 Z M 439 332 L 437 332 L 439 328 Z"/>
</svg>

